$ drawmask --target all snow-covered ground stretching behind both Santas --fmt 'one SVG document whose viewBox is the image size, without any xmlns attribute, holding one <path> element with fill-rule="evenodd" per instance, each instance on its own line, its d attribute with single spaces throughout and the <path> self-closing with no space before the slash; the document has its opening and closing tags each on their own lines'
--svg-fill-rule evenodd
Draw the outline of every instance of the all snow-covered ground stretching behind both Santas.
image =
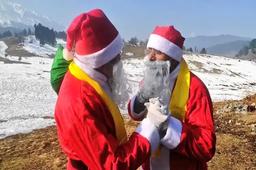
<svg viewBox="0 0 256 170">
<path fill-rule="evenodd" d="M 65 46 L 65 42 L 58 40 Z M 3 47 L 3 48 L 1 48 Z M 6 45 L 0 41 L 0 56 L 4 57 Z M 53 47 L 40 47 L 35 41 L 25 43 L 30 52 L 45 56 L 55 53 Z M 18 61 L 12 56 L 10 60 Z M 185 54 L 189 68 L 208 87 L 213 101 L 241 99 L 255 92 L 251 84 L 256 82 L 256 66 L 250 61 L 229 59 L 219 56 Z M 48 57 L 22 57 L 22 62 L 31 64 L 3 64 L 0 62 L 0 138 L 18 133 L 31 132 L 55 124 L 54 107 L 57 95 L 50 84 L 50 70 L 53 59 Z M 45 64 L 39 64 L 42 61 Z M 210 64 L 208 64 L 210 62 Z M 124 68 L 129 74 L 135 93 L 143 77 L 143 60 L 124 59 Z M 133 94 L 131 94 L 132 96 Z M 127 111 L 121 111 L 127 114 Z"/>
</svg>

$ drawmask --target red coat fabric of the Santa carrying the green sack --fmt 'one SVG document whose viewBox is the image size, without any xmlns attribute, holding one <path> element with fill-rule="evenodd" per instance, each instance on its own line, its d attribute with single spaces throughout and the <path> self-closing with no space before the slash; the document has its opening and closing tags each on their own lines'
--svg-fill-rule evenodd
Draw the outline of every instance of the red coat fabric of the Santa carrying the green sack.
<svg viewBox="0 0 256 170">
<path fill-rule="evenodd" d="M 88 169 L 137 169 L 151 155 L 150 143 L 136 132 L 127 143 L 118 144 L 113 117 L 102 98 L 69 71 L 59 91 L 55 121 L 63 151 Z M 73 169 L 70 161 L 67 169 Z"/>
</svg>

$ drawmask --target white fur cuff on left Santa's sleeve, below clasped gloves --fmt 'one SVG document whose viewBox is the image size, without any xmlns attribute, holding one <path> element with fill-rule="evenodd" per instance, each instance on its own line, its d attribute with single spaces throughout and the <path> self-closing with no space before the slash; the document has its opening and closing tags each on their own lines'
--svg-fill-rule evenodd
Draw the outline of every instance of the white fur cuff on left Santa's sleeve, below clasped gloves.
<svg viewBox="0 0 256 170">
<path fill-rule="evenodd" d="M 156 126 L 150 120 L 145 118 L 135 132 L 139 133 L 150 142 L 151 154 L 153 154 L 160 143 L 160 137 Z"/>
</svg>

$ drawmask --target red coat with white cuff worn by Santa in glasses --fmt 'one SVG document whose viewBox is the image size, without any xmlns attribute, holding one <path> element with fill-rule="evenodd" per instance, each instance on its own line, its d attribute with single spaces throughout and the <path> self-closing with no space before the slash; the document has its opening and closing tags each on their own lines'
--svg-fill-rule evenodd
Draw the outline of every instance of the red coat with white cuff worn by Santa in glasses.
<svg viewBox="0 0 256 170">
<path fill-rule="evenodd" d="M 141 121 L 145 112 L 133 112 L 135 99 L 136 95 L 129 100 L 128 113 L 133 120 Z M 150 157 L 142 169 L 207 170 L 207 162 L 214 156 L 216 145 L 213 105 L 207 87 L 191 71 L 185 121 L 171 117 L 168 123 L 167 133 L 160 140 L 164 146 L 161 158 Z"/>
</svg>

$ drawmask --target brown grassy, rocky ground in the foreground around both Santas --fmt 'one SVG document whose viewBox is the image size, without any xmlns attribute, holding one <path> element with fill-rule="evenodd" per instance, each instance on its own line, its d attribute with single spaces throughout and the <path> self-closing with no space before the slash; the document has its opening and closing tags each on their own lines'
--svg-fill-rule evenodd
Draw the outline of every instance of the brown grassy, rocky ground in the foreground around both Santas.
<svg viewBox="0 0 256 170">
<path fill-rule="evenodd" d="M 255 102 L 256 95 L 241 101 L 214 103 L 217 145 L 215 156 L 208 163 L 210 170 L 256 169 L 256 111 L 252 109 Z M 248 105 L 252 112 L 247 112 Z M 138 122 L 128 117 L 124 121 L 130 136 Z M 64 170 L 66 163 L 56 126 L 0 140 L 1 170 Z"/>
</svg>

